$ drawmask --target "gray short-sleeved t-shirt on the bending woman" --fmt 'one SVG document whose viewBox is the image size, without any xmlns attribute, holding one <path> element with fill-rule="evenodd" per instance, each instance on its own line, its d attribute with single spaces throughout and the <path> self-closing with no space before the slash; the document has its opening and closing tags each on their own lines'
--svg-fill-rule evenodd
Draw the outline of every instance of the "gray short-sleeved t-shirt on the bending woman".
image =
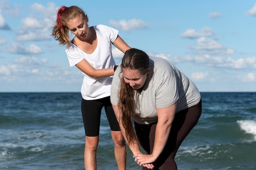
<svg viewBox="0 0 256 170">
<path fill-rule="evenodd" d="M 157 122 L 156 107 L 168 107 L 177 101 L 176 113 L 199 103 L 201 96 L 195 84 L 173 64 L 163 58 L 150 57 L 150 74 L 141 93 L 135 90 L 139 101 L 134 121 L 140 124 Z M 115 71 L 111 85 L 111 103 L 118 105 L 121 68 Z"/>
</svg>

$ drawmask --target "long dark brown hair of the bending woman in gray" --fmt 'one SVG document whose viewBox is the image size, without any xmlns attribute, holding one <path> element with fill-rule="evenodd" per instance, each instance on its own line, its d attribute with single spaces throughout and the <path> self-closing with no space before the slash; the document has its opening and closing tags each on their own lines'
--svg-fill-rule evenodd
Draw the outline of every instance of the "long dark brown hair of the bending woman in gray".
<svg viewBox="0 0 256 170">
<path fill-rule="evenodd" d="M 121 73 L 124 68 L 129 68 L 137 69 L 141 75 L 147 74 L 148 68 L 150 68 L 148 55 L 139 49 L 128 49 L 124 54 L 120 67 Z M 136 137 L 135 133 L 133 133 L 131 118 L 135 115 L 135 109 L 139 103 L 135 99 L 135 90 L 128 83 L 125 83 L 123 76 L 121 77 L 119 89 L 118 107 L 121 112 L 120 119 L 126 132 L 127 143 L 131 143 Z"/>
</svg>

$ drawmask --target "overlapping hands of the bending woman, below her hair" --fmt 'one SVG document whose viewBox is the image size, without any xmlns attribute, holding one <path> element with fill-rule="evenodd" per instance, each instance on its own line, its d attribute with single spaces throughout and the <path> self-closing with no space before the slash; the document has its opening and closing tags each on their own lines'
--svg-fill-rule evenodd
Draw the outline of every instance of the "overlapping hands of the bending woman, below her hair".
<svg viewBox="0 0 256 170">
<path fill-rule="evenodd" d="M 154 165 L 152 162 L 154 162 L 156 159 L 153 157 L 152 154 L 134 154 L 133 157 L 135 158 L 134 161 L 138 163 L 139 166 L 144 166 L 148 169 L 153 169 Z"/>
</svg>

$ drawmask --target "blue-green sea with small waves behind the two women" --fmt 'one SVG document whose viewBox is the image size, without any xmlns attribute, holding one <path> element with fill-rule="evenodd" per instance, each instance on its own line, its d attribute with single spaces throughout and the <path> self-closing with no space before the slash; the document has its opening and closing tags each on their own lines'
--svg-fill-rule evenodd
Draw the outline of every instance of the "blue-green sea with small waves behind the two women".
<svg viewBox="0 0 256 170">
<path fill-rule="evenodd" d="M 256 92 L 202 92 L 178 170 L 256 170 Z M 0 93 L 0 170 L 84 170 L 81 94 Z M 117 170 L 104 110 L 98 170 Z M 141 170 L 128 150 L 127 170 Z"/>
</svg>

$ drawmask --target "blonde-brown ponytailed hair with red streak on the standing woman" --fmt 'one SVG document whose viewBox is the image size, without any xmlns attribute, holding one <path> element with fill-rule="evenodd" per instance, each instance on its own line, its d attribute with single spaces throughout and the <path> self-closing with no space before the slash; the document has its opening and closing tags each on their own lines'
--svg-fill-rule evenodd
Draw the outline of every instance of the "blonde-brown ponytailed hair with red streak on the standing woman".
<svg viewBox="0 0 256 170">
<path fill-rule="evenodd" d="M 56 15 L 55 26 L 52 27 L 52 35 L 55 40 L 59 41 L 60 45 L 68 45 L 70 42 L 69 29 L 66 24 L 69 20 L 81 17 L 83 20 L 88 22 L 88 17 L 85 15 L 83 10 L 77 6 L 65 7 L 62 6 L 58 9 Z"/>
</svg>

